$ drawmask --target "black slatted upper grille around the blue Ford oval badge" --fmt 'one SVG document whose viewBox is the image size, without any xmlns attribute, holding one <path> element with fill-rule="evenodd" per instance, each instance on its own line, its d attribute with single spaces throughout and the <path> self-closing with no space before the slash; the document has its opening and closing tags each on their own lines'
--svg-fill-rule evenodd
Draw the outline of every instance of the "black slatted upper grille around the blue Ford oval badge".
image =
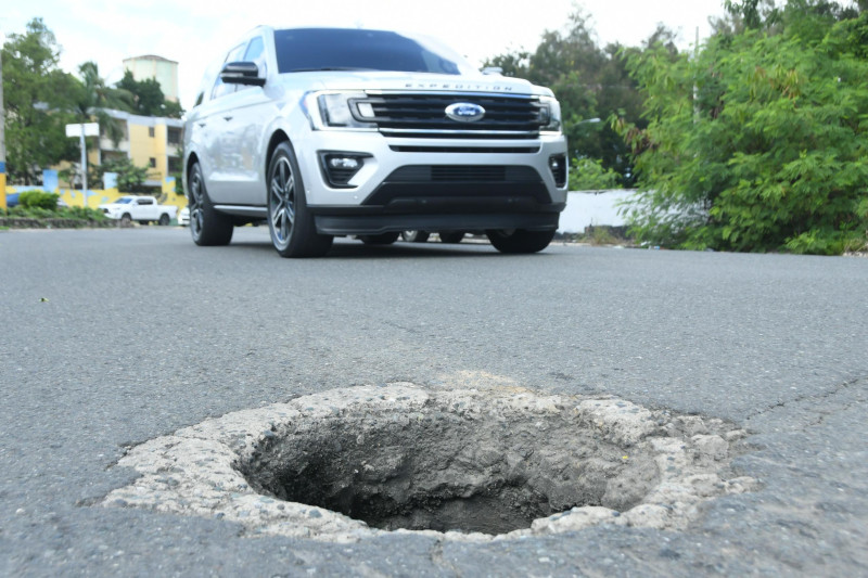
<svg viewBox="0 0 868 578">
<path fill-rule="evenodd" d="M 536 97 L 442 93 L 376 93 L 350 101 L 353 115 L 370 123 L 362 110 L 370 105 L 373 123 L 390 137 L 439 138 L 535 138 L 546 124 L 545 108 Z M 485 116 L 462 123 L 446 116 L 446 107 L 458 102 L 478 104 Z"/>
</svg>

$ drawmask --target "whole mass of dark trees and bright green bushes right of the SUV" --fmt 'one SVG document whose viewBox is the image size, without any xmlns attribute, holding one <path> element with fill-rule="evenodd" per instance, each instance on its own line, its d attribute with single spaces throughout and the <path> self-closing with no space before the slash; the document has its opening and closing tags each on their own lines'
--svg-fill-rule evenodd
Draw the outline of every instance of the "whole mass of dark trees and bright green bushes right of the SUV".
<svg viewBox="0 0 868 578">
<path fill-rule="evenodd" d="M 554 90 L 571 190 L 637 188 L 622 208 L 642 245 L 865 251 L 868 0 L 724 5 L 687 51 L 665 27 L 600 47 L 576 12 L 535 50 L 488 65 Z"/>
</svg>

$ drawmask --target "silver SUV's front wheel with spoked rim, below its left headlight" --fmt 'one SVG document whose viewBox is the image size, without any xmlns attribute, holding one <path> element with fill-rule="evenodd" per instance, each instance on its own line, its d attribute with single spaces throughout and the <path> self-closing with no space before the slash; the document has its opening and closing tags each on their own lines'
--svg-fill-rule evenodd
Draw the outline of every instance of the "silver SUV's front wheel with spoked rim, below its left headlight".
<svg viewBox="0 0 868 578">
<path fill-rule="evenodd" d="M 321 257 L 334 237 L 317 233 L 307 208 L 302 172 L 289 142 L 275 150 L 268 163 L 268 231 L 281 257 Z"/>
</svg>

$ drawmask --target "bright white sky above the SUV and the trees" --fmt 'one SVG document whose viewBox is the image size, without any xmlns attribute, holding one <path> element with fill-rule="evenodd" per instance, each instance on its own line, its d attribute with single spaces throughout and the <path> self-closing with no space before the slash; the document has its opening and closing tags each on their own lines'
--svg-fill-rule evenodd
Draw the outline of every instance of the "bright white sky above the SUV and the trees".
<svg viewBox="0 0 868 578">
<path fill-rule="evenodd" d="M 77 74 L 94 61 L 111 84 L 122 61 L 156 54 L 177 61 L 181 106 L 189 110 L 205 69 L 251 28 L 349 26 L 421 33 L 443 40 L 472 63 L 534 50 L 546 30 L 563 30 L 576 9 L 589 16 L 601 46 L 638 46 L 663 23 L 679 46 L 711 34 L 723 0 L 33 0 L 7 2 L 0 36 L 23 34 L 41 17 L 62 47 L 61 67 Z"/>
</svg>

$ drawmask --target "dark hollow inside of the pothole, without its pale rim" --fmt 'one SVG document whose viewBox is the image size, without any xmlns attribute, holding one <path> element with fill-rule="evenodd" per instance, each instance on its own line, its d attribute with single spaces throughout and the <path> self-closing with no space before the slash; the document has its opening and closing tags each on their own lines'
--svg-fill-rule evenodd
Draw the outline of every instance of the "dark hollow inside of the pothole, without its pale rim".
<svg viewBox="0 0 868 578">
<path fill-rule="evenodd" d="M 648 448 L 618 445 L 565 407 L 525 410 L 429 400 L 404 414 L 296 423 L 241 471 L 263 492 L 372 527 L 484 534 L 575 506 L 629 510 L 658 484 Z"/>
</svg>

